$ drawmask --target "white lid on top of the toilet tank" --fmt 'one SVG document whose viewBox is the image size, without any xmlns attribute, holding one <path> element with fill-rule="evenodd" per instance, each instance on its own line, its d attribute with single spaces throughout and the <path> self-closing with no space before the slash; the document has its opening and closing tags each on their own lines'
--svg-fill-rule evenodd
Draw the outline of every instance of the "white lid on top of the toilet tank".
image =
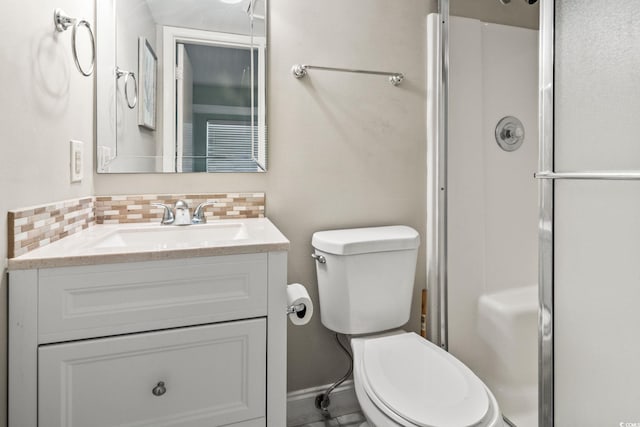
<svg viewBox="0 0 640 427">
<path fill-rule="evenodd" d="M 317 231 L 313 233 L 311 244 L 330 254 L 355 255 L 415 249 L 420 245 L 420 235 L 405 225 L 349 228 Z"/>
</svg>

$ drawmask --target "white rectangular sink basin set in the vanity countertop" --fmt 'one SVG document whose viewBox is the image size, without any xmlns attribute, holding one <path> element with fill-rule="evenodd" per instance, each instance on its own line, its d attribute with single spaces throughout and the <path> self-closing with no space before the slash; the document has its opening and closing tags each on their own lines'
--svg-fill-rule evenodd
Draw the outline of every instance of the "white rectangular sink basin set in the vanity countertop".
<svg viewBox="0 0 640 427">
<path fill-rule="evenodd" d="M 90 246 L 95 250 L 127 249 L 187 249 L 219 245 L 249 238 L 243 223 L 216 223 L 186 226 L 146 226 L 121 228 L 107 234 Z"/>
</svg>

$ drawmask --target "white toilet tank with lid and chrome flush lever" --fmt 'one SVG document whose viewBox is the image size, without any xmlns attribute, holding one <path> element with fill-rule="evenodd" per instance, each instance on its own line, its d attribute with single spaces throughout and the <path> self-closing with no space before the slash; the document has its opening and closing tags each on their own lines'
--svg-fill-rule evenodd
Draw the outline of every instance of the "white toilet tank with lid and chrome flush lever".
<svg viewBox="0 0 640 427">
<path fill-rule="evenodd" d="M 332 331 L 367 334 L 409 320 L 420 235 L 406 226 L 313 234 L 320 318 Z M 326 262 L 321 262 L 326 260 Z"/>
</svg>

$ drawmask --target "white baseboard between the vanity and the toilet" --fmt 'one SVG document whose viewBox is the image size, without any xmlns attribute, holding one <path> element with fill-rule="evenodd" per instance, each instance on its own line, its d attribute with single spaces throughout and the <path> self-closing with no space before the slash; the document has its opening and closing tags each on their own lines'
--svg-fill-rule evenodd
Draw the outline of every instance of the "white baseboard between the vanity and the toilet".
<svg viewBox="0 0 640 427">
<path fill-rule="evenodd" d="M 316 408 L 316 396 L 323 393 L 331 384 L 296 390 L 287 394 L 287 426 L 322 421 L 322 414 Z M 360 411 L 353 381 L 345 381 L 330 395 L 329 412 L 332 417 L 352 414 Z"/>
</svg>

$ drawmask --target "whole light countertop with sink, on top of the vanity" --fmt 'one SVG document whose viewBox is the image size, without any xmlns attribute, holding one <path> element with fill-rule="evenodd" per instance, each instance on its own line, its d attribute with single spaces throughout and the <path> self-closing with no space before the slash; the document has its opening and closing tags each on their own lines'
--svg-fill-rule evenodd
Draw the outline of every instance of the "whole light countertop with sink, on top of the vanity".
<svg viewBox="0 0 640 427">
<path fill-rule="evenodd" d="M 207 239 L 200 237 L 217 226 L 237 228 L 240 236 Z M 189 236 L 175 240 L 175 236 Z M 166 235 L 135 244 L 118 244 L 126 235 Z M 267 218 L 212 220 L 204 225 L 109 224 L 95 225 L 57 242 L 9 259 L 9 271 L 34 268 L 68 267 L 75 265 L 110 264 L 119 262 L 153 261 L 215 255 L 234 255 L 255 252 L 286 251 L 289 240 Z"/>
</svg>

